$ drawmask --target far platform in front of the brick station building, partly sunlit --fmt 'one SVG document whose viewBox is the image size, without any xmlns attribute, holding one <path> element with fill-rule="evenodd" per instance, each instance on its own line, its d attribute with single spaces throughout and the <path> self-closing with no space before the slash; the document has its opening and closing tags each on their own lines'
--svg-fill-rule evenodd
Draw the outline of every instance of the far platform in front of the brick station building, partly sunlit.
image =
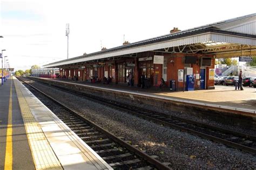
<svg viewBox="0 0 256 170">
<path fill-rule="evenodd" d="M 156 89 L 152 86 L 148 89 L 140 87 L 130 87 L 127 84 L 102 84 L 89 83 L 85 81 L 72 81 L 68 79 L 51 79 L 65 81 L 73 84 L 82 84 L 86 86 L 100 87 L 109 90 L 129 92 L 131 94 L 141 94 L 158 99 L 178 101 L 180 103 L 193 104 L 198 106 L 208 106 L 231 112 L 248 113 L 256 116 L 256 89 L 246 88 L 244 91 L 227 89 L 226 86 L 215 86 L 214 90 L 195 90 L 195 91 L 170 91 L 168 87 Z"/>
</svg>

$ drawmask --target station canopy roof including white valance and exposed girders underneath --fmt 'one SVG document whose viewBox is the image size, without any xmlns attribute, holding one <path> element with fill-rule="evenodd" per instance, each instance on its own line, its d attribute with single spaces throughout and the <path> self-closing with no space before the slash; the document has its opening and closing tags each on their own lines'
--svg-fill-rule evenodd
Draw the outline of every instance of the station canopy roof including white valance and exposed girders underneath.
<svg viewBox="0 0 256 170">
<path fill-rule="evenodd" d="M 57 67 L 118 56 L 132 57 L 134 53 L 145 51 L 208 53 L 217 58 L 254 56 L 256 55 L 256 13 L 60 60 L 44 67 Z"/>
</svg>

